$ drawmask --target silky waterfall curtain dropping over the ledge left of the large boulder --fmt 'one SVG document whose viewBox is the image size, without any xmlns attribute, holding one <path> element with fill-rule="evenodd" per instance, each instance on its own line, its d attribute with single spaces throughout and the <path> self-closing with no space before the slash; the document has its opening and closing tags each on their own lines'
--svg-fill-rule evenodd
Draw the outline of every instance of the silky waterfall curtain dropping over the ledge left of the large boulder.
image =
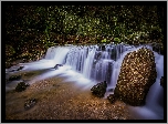
<svg viewBox="0 0 168 124">
<path fill-rule="evenodd" d="M 103 49 L 104 46 L 104 49 Z M 83 74 L 95 82 L 107 81 L 108 85 L 115 86 L 119 73 L 119 58 L 125 51 L 134 48 L 126 44 L 107 44 L 90 46 L 51 46 L 43 60 L 32 62 L 29 69 L 53 68 L 55 64 L 71 66 L 75 72 Z M 30 63 L 23 63 L 28 66 Z"/>
</svg>

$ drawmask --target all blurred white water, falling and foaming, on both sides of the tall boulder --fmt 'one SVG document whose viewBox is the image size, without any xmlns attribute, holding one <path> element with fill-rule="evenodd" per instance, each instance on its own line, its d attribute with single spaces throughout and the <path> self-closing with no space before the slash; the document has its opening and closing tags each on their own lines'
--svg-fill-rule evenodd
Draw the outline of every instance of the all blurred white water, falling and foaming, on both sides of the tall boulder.
<svg viewBox="0 0 168 124">
<path fill-rule="evenodd" d="M 115 89 L 124 56 L 141 46 L 112 45 L 108 44 L 105 51 L 97 45 L 92 46 L 52 46 L 48 50 L 45 59 L 20 63 L 24 65 L 22 71 L 33 71 L 48 69 L 41 75 L 35 76 L 29 83 L 44 80 L 55 75 L 65 78 L 65 82 L 76 82 L 83 89 L 91 89 L 94 84 L 107 81 L 107 89 Z M 151 49 L 150 46 L 147 46 Z M 157 80 L 151 85 L 145 106 L 129 106 L 132 114 L 139 120 L 162 120 L 164 118 L 164 90 L 160 86 L 160 78 L 164 76 L 164 56 L 155 53 Z M 55 64 L 64 64 L 59 70 L 54 70 Z M 11 69 L 7 70 L 9 73 Z M 15 72 L 10 72 L 15 73 Z M 8 90 L 10 85 L 7 85 Z M 113 93 L 113 92 L 112 92 Z M 109 94 L 106 93 L 105 97 Z"/>
</svg>

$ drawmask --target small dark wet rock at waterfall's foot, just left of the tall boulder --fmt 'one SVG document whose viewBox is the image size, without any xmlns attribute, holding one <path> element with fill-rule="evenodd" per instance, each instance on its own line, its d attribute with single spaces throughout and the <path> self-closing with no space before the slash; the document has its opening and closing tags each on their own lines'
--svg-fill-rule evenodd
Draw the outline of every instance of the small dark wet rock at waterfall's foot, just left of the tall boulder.
<svg viewBox="0 0 168 124">
<path fill-rule="evenodd" d="M 107 83 L 106 81 L 97 83 L 91 89 L 93 95 L 97 97 L 103 97 L 106 92 Z"/>
</svg>

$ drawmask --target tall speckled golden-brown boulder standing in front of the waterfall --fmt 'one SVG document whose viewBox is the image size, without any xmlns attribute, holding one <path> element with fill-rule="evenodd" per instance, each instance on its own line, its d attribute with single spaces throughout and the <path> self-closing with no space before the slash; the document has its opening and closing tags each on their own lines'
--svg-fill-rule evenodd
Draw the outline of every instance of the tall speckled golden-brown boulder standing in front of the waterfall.
<svg viewBox="0 0 168 124">
<path fill-rule="evenodd" d="M 130 52 L 122 63 L 114 94 L 129 105 L 144 105 L 156 76 L 155 56 L 151 50 L 141 48 Z"/>
</svg>

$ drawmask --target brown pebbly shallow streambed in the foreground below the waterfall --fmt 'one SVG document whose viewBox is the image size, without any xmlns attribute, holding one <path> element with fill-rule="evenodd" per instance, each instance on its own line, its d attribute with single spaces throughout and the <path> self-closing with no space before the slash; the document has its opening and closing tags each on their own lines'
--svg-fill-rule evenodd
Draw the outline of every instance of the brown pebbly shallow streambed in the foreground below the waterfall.
<svg viewBox="0 0 168 124">
<path fill-rule="evenodd" d="M 24 102 L 36 104 L 24 110 Z M 33 83 L 23 92 L 6 94 L 6 120 L 134 120 L 125 103 L 111 104 L 92 95 L 63 78 L 51 78 Z"/>
</svg>

